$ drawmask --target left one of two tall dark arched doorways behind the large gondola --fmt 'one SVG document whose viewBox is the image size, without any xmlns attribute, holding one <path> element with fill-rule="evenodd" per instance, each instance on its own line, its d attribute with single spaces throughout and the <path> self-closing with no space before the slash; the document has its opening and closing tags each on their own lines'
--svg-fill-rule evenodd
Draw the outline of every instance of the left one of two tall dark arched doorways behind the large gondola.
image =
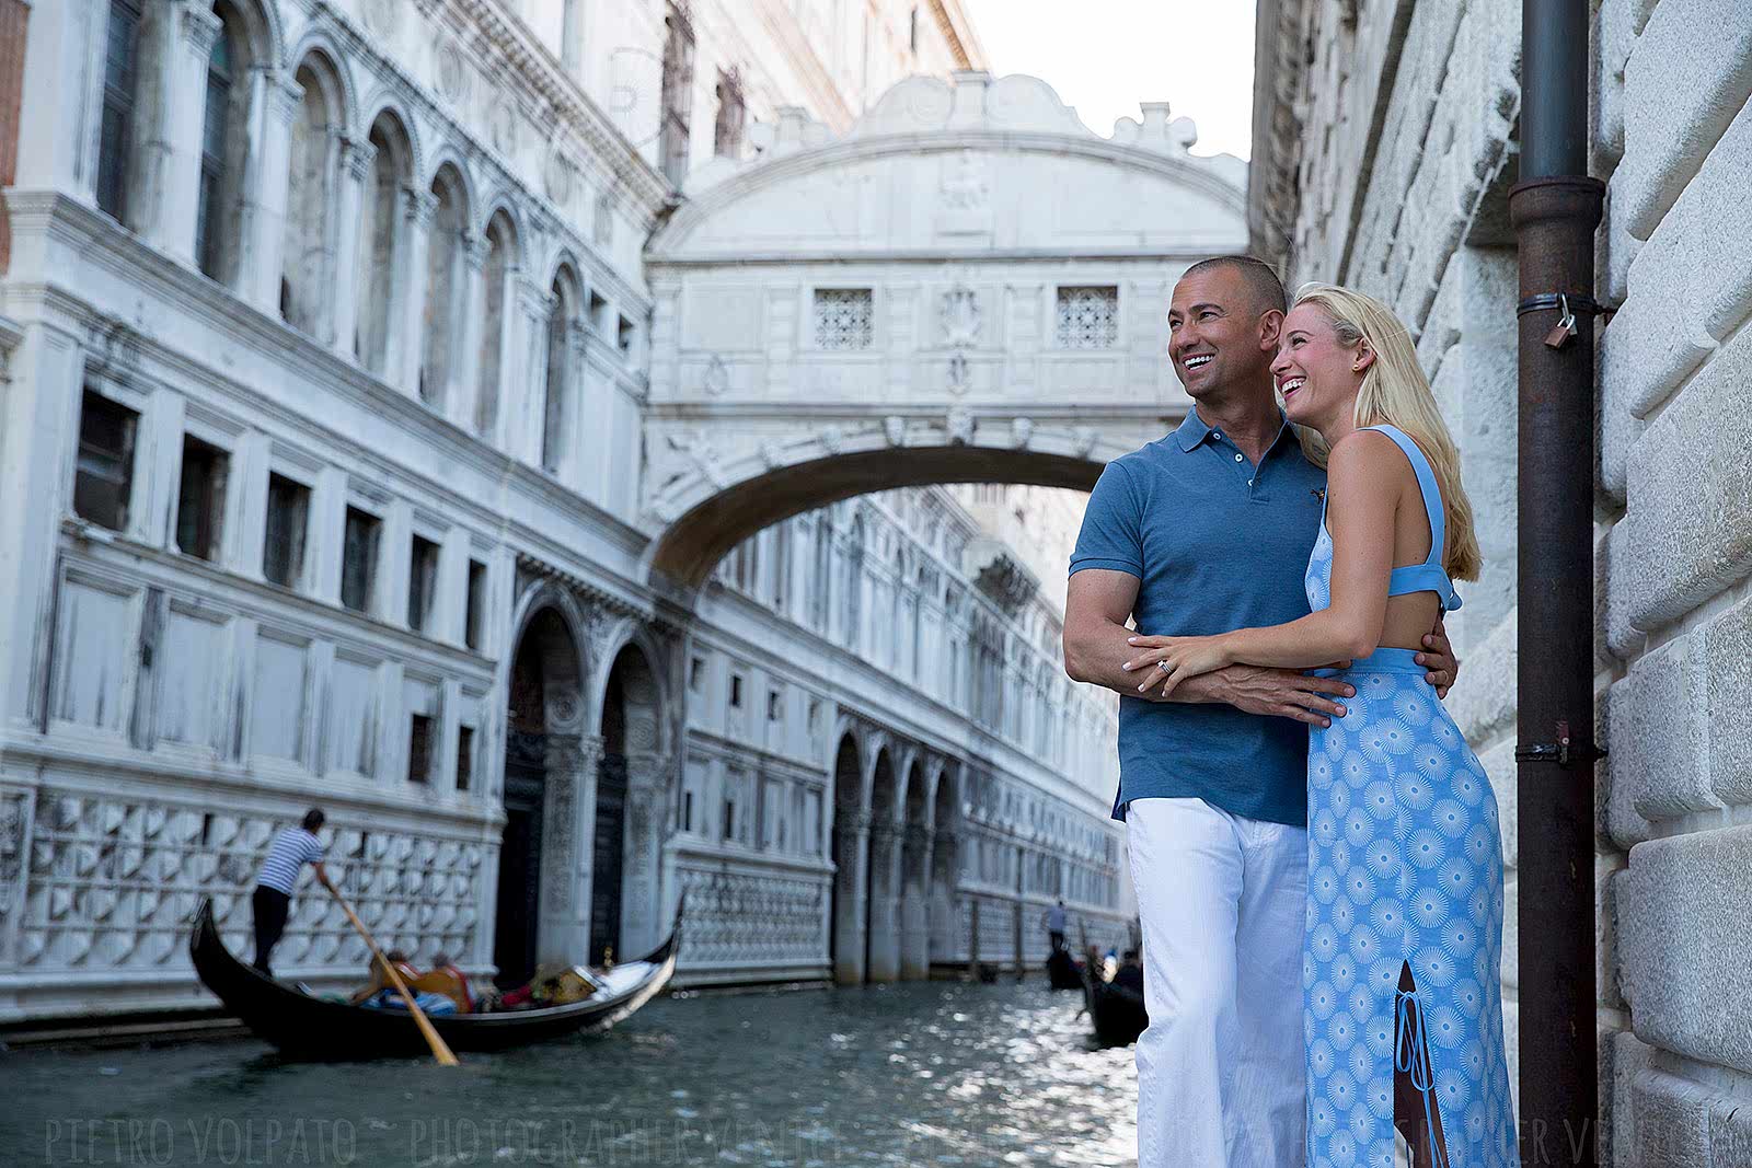
<svg viewBox="0 0 1752 1168">
<path fill-rule="evenodd" d="M 543 960 L 576 960 L 576 806 L 583 685 L 576 611 L 557 588 L 522 597 L 506 655 L 505 835 L 494 919 L 501 984 Z"/>
</svg>

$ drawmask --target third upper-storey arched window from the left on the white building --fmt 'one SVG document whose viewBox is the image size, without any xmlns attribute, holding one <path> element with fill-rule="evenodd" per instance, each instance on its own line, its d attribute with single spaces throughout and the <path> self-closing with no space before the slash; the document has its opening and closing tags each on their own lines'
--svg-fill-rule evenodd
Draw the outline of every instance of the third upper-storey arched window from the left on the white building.
<svg viewBox="0 0 1752 1168">
<path fill-rule="evenodd" d="M 335 193 L 340 173 L 342 88 L 322 56 L 308 56 L 294 74 L 303 88 L 293 119 L 286 193 L 286 257 L 280 317 L 312 336 L 328 333 L 335 289 Z M 319 340 L 328 340 L 319 336 Z"/>
</svg>

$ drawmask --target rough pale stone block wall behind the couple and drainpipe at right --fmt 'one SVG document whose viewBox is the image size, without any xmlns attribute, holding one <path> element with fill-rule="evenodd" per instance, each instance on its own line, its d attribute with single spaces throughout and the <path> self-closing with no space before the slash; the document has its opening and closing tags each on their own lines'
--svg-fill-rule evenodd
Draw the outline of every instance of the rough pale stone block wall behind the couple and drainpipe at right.
<svg viewBox="0 0 1752 1168">
<path fill-rule="evenodd" d="M 1601 1163 L 1741 1164 L 1752 1145 L 1743 748 L 1752 601 L 1752 19 L 1734 0 L 1593 5 Z M 1459 441 L 1486 569 L 1449 699 L 1503 816 L 1515 1003 L 1515 303 L 1521 5 L 1265 0 L 1253 245 L 1291 284 L 1381 296 Z M 1552 1040 L 1561 1040 L 1554 1033 Z M 1514 1051 L 1510 1052 L 1514 1054 Z M 1522 1149 L 1570 1163 L 1563 1133 Z"/>
</svg>

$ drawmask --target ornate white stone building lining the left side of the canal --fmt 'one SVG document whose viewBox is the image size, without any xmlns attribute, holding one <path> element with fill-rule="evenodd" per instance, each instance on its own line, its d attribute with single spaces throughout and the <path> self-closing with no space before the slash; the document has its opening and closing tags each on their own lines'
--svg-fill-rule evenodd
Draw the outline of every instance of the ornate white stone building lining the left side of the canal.
<svg viewBox="0 0 1752 1168">
<path fill-rule="evenodd" d="M 1070 327 L 1144 408 L 943 443 L 1002 445 L 965 478 L 1091 482 L 1184 408 L 1151 289 L 1244 231 L 1235 165 L 1184 159 L 1165 107 L 1093 138 L 979 81 L 950 0 L 0 0 L 0 1019 L 201 1003 L 194 907 L 247 947 L 312 802 L 377 937 L 473 974 L 636 954 L 683 895 L 694 984 L 1035 963 L 1056 897 L 1123 944 L 1114 702 L 1063 678 L 1041 585 L 1063 503 L 865 466 L 666 580 L 685 277 L 646 249 L 696 179 L 818 168 L 781 128 L 832 154 L 899 77 L 1027 96 L 1041 158 L 1209 201 L 1181 245 L 1081 245 Z M 1000 287 L 1067 247 L 981 257 Z M 1060 518 L 1018 548 L 1018 504 Z M 363 967 L 300 895 L 277 968 Z"/>
</svg>

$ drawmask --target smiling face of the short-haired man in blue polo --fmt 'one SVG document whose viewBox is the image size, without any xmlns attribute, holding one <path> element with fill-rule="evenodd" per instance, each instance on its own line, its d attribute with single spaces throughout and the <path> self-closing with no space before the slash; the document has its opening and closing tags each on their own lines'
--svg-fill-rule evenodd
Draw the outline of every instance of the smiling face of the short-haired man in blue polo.
<svg viewBox="0 0 1752 1168">
<path fill-rule="evenodd" d="M 1270 391 L 1267 369 L 1277 341 L 1274 320 L 1261 320 L 1254 296 L 1235 268 L 1218 266 L 1183 277 L 1169 305 L 1169 359 L 1186 392 L 1197 401 L 1242 383 Z"/>
</svg>

